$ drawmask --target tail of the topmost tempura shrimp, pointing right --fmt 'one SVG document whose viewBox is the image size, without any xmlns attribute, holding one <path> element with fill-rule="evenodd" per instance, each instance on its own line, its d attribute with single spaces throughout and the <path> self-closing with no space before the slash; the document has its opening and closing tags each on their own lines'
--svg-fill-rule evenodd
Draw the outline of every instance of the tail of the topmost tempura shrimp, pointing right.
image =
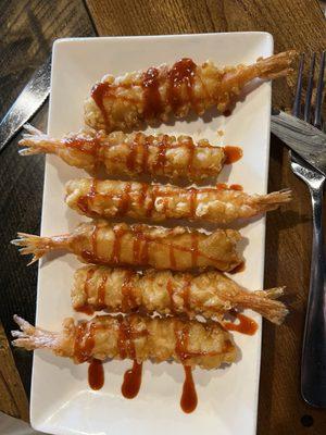
<svg viewBox="0 0 326 435">
<path fill-rule="evenodd" d="M 255 64 L 258 76 L 263 79 L 274 79 L 291 73 L 293 71 L 291 64 L 296 57 L 297 52 L 289 50 L 266 59 L 259 59 Z"/>
</svg>

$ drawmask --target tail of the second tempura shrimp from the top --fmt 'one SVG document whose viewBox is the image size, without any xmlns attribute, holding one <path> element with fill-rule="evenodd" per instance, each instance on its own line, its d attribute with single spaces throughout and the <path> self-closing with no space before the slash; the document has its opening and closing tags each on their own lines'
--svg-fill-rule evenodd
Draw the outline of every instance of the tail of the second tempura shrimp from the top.
<svg viewBox="0 0 326 435">
<path fill-rule="evenodd" d="M 30 124 L 24 125 L 25 133 L 18 141 L 20 147 L 26 147 L 18 152 L 21 156 L 55 153 L 60 144 L 55 139 L 51 139 L 48 135 L 35 128 Z"/>
</svg>

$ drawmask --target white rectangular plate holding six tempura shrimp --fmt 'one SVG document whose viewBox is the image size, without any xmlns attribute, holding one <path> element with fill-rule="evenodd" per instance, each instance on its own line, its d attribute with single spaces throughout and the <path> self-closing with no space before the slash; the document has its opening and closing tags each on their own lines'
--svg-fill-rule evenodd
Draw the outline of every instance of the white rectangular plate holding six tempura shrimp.
<svg viewBox="0 0 326 435">
<path fill-rule="evenodd" d="M 273 51 L 273 38 L 265 33 L 209 35 L 114 37 L 59 40 L 53 47 L 49 134 L 60 137 L 83 126 L 83 102 L 91 86 L 104 74 L 123 74 L 147 69 L 181 57 L 200 63 L 212 59 L 217 65 L 254 62 Z M 243 158 L 226 167 L 221 181 L 241 184 L 246 191 L 266 192 L 271 85 L 264 83 L 237 104 L 231 116 L 210 122 L 178 121 L 162 125 L 160 132 L 205 137 L 216 145 L 239 145 Z M 218 136 L 217 130 L 224 130 Z M 42 210 L 42 235 L 65 233 L 80 222 L 64 204 L 64 184 L 84 176 L 55 157 L 47 157 Z M 249 239 L 244 249 L 246 270 L 234 278 L 250 289 L 263 286 L 265 221 L 256 220 L 242 229 Z M 45 328 L 58 331 L 65 316 L 80 318 L 73 312 L 70 289 L 74 271 L 80 265 L 71 254 L 43 261 L 39 269 L 37 321 Z M 176 363 L 147 362 L 140 393 L 134 400 L 121 394 L 124 371 L 130 361 L 104 364 L 105 385 L 93 391 L 87 383 L 87 364 L 74 365 L 70 360 L 47 351 L 36 351 L 32 381 L 32 424 L 51 434 L 133 433 L 187 435 L 252 435 L 255 432 L 261 319 L 254 336 L 235 334 L 239 361 L 227 369 L 203 371 L 193 376 L 199 398 L 192 414 L 179 407 L 184 371 Z"/>
</svg>

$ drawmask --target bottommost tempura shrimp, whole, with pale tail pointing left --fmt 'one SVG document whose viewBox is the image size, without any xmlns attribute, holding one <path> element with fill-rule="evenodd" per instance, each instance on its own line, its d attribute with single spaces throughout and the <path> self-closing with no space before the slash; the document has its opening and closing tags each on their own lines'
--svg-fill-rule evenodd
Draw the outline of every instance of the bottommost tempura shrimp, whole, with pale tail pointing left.
<svg viewBox="0 0 326 435">
<path fill-rule="evenodd" d="M 14 316 L 20 331 L 13 331 L 14 346 L 28 350 L 46 348 L 75 363 L 92 358 L 131 359 L 137 362 L 162 362 L 173 359 L 184 365 L 217 369 L 236 359 L 236 347 L 229 333 L 218 323 L 206 324 L 175 318 L 151 319 L 137 314 L 101 315 L 77 324 L 66 319 L 61 333 L 32 326 Z"/>
</svg>

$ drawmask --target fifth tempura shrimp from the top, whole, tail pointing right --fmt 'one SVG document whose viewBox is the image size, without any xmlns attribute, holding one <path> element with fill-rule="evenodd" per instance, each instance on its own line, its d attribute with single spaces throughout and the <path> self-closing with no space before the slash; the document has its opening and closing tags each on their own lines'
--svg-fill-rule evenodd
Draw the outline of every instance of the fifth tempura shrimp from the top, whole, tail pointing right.
<svg viewBox="0 0 326 435">
<path fill-rule="evenodd" d="M 222 321 L 235 308 L 250 308 L 271 322 L 281 323 L 288 310 L 273 300 L 283 288 L 248 291 L 220 272 L 199 275 L 128 269 L 85 266 L 75 273 L 72 302 L 77 311 L 130 313 L 142 310 L 160 314 L 201 314 Z"/>
</svg>

